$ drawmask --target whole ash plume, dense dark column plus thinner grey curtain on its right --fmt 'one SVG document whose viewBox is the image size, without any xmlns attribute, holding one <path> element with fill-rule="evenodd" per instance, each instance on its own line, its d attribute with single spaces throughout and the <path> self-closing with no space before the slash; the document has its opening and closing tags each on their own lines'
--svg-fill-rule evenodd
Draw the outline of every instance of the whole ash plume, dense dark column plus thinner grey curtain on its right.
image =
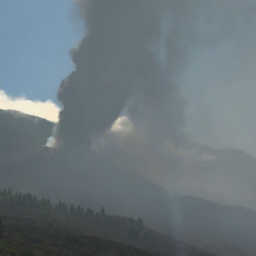
<svg viewBox="0 0 256 256">
<path fill-rule="evenodd" d="M 89 145 L 91 137 L 109 130 L 123 110 L 144 126 L 174 119 L 169 127 L 161 124 L 161 133 L 179 130 L 183 102 L 174 77 L 186 53 L 177 29 L 182 23 L 168 27 L 168 22 L 170 17 L 185 18 L 181 2 L 78 1 L 87 36 L 71 52 L 76 69 L 59 91 L 64 105 L 59 143 Z M 174 34 L 166 51 L 169 28 Z M 168 101 L 174 102 L 172 107 Z"/>
</svg>

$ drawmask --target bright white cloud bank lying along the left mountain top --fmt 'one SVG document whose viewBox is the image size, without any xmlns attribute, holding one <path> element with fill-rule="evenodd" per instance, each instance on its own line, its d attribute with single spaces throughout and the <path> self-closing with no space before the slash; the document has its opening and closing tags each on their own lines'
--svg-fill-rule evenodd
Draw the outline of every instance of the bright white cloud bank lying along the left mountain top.
<svg viewBox="0 0 256 256">
<path fill-rule="evenodd" d="M 58 122 L 60 108 L 52 101 L 30 101 L 25 97 L 13 98 L 0 90 L 0 109 L 17 110 L 25 114 Z"/>
</svg>

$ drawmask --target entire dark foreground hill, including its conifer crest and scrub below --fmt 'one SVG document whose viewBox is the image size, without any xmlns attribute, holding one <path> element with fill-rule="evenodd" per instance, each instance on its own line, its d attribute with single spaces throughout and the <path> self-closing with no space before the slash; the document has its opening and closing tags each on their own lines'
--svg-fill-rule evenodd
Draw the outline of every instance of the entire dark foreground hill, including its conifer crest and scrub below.
<svg viewBox="0 0 256 256">
<path fill-rule="evenodd" d="M 111 216 L 104 208 L 94 212 L 64 202 L 52 204 L 10 190 L 0 191 L 0 198 L 0 255 L 211 255 L 148 229 L 142 219 Z"/>
</svg>

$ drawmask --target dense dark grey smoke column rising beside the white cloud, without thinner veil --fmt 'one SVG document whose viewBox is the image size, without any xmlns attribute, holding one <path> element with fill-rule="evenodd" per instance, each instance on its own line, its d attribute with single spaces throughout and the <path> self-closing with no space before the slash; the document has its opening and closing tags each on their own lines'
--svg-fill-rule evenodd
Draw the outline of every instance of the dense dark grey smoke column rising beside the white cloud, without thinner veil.
<svg viewBox="0 0 256 256">
<path fill-rule="evenodd" d="M 59 90 L 64 105 L 58 127 L 60 144 L 89 145 L 92 136 L 119 118 L 133 91 L 143 94 L 146 104 L 155 92 L 157 97 L 158 87 L 166 81 L 161 79 L 154 48 L 168 2 L 78 1 L 89 32 L 72 52 L 76 69 Z"/>
</svg>

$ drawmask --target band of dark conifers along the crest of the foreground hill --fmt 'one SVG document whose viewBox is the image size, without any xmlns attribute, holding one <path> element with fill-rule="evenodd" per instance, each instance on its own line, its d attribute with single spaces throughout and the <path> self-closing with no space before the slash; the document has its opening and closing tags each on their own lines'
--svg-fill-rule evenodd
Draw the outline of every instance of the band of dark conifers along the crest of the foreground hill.
<svg viewBox="0 0 256 256">
<path fill-rule="evenodd" d="M 0 190 L 0 212 L 1 209 L 14 208 L 38 210 L 41 213 L 50 213 L 51 215 L 71 216 L 79 218 L 84 222 L 95 224 L 101 229 L 123 230 L 126 236 L 131 239 L 137 239 L 144 229 L 143 220 L 138 218 L 124 218 L 119 216 L 111 216 L 106 214 L 104 207 L 99 211 L 94 211 L 90 208 L 70 204 L 67 205 L 63 201 L 52 203 L 48 198 L 38 198 L 35 195 L 22 192 L 12 192 L 10 189 Z M 1 227 L 0 227 L 1 232 Z M 1 235 L 1 233 L 0 233 Z"/>
</svg>

